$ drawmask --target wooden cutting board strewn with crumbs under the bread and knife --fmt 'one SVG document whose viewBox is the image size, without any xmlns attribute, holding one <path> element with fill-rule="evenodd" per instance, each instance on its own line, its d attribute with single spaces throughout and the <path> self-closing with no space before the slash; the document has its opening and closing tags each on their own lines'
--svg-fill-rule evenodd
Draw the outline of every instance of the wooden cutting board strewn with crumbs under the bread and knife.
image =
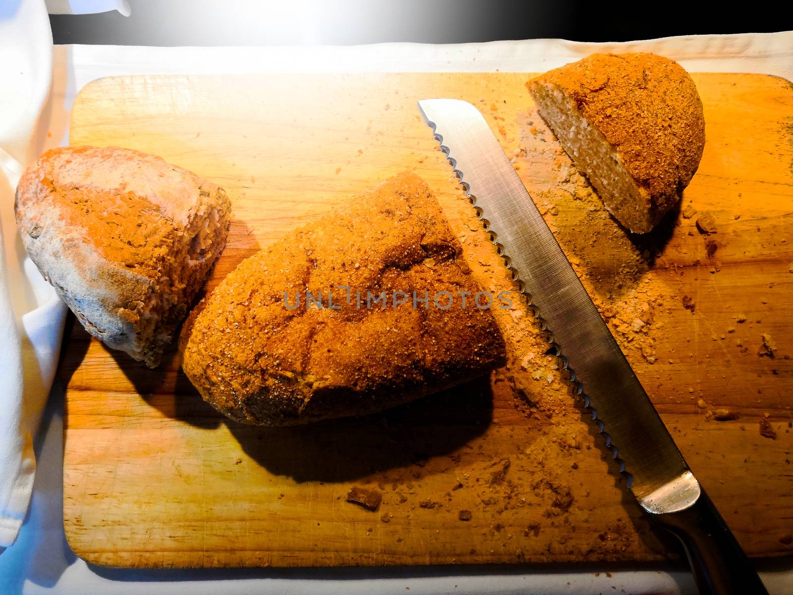
<svg viewBox="0 0 793 595">
<path fill-rule="evenodd" d="M 637 237 L 570 167 L 527 95 L 529 78 L 101 79 L 79 93 L 71 142 L 162 155 L 228 190 L 234 221 L 209 289 L 294 226 L 412 169 L 438 195 L 481 285 L 508 290 L 416 109 L 426 97 L 473 102 L 737 539 L 749 555 L 793 553 L 791 84 L 695 75 L 707 120 L 702 163 L 681 209 Z M 496 314 L 509 363 L 491 378 L 371 417 L 288 429 L 215 413 L 173 350 L 147 370 L 75 325 L 59 369 L 71 547 L 110 566 L 670 555 L 536 322 L 520 304 Z M 776 439 L 760 434 L 765 416 Z M 377 489 L 377 512 L 347 502 L 351 486 Z"/>
</svg>

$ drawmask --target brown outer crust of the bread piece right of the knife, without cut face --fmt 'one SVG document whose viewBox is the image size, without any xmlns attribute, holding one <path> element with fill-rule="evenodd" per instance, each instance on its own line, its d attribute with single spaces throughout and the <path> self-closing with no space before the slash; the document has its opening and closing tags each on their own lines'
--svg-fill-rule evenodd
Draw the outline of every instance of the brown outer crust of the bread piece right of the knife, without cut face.
<svg viewBox="0 0 793 595">
<path fill-rule="evenodd" d="M 647 215 L 623 225 L 648 232 L 678 202 L 705 146 L 702 101 L 680 64 L 650 53 L 593 54 L 527 87 L 534 98 L 542 88 L 561 90 L 619 155 Z"/>
</svg>

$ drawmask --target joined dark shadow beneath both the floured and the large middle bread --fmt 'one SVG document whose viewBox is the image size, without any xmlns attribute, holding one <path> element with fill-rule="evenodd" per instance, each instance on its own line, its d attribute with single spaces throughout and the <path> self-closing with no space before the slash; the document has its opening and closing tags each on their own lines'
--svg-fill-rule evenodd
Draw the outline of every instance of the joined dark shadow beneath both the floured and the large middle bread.
<svg viewBox="0 0 793 595">
<path fill-rule="evenodd" d="M 492 388 L 489 376 L 483 376 L 365 417 L 287 428 L 239 424 L 201 398 L 182 372 L 175 341 L 155 370 L 121 351 L 107 351 L 148 405 L 196 428 L 226 424 L 251 459 L 297 482 L 346 482 L 395 467 L 423 466 L 481 436 L 492 422 Z"/>
</svg>

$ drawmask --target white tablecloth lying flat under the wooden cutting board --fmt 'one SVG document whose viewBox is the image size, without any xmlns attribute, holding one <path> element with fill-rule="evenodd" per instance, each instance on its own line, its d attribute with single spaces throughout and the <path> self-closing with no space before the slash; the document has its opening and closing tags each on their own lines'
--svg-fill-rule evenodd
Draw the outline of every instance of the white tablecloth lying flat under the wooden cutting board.
<svg viewBox="0 0 793 595">
<path fill-rule="evenodd" d="M 77 91 L 102 76 L 154 73 L 545 71 L 592 52 L 652 51 L 689 71 L 760 72 L 793 79 L 793 32 L 687 36 L 626 44 L 561 40 L 351 48 L 130 48 L 57 46 L 44 148 L 66 144 Z M 112 570 L 87 566 L 63 536 L 62 404 L 53 390 L 36 444 L 33 503 L 17 542 L 0 555 L 0 593 L 694 593 L 688 570 L 477 567 L 308 570 Z M 762 573 L 772 593 L 793 593 L 791 562 Z M 624 567 L 623 567 L 624 569 Z M 606 574 L 606 571 L 610 575 Z M 598 573 L 596 575 L 596 573 Z M 409 591 L 407 589 L 410 589 Z"/>
</svg>

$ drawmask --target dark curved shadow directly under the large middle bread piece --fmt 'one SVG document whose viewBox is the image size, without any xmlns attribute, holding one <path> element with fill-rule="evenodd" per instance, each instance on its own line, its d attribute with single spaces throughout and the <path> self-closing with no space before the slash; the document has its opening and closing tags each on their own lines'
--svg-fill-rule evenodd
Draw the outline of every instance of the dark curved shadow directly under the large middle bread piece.
<svg viewBox="0 0 793 595">
<path fill-rule="evenodd" d="M 297 482 L 346 482 L 454 452 L 492 421 L 488 376 L 374 413 L 288 428 L 227 421 L 247 455 Z"/>
</svg>

